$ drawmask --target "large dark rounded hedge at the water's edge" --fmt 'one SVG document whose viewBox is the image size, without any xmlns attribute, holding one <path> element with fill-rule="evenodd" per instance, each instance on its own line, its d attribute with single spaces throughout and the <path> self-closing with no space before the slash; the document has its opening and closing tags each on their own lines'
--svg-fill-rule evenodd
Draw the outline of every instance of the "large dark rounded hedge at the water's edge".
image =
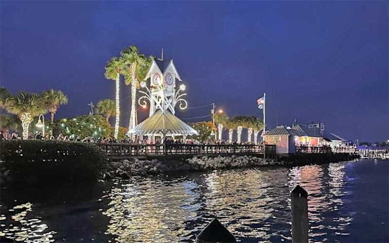
<svg viewBox="0 0 389 243">
<path fill-rule="evenodd" d="M 108 162 L 96 145 L 52 140 L 0 141 L 1 173 L 13 180 L 96 180 Z"/>
</svg>

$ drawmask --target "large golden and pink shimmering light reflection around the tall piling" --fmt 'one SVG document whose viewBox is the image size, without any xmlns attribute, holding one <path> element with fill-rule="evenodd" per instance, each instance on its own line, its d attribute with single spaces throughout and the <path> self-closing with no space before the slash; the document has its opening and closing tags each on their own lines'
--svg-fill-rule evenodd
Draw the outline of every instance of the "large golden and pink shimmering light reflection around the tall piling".
<svg viewBox="0 0 389 243">
<path fill-rule="evenodd" d="M 289 191 L 297 184 L 309 193 L 309 236 L 327 240 L 327 231 L 347 234 L 343 221 L 326 213 L 342 205 L 344 164 L 217 171 L 200 177 L 135 181 L 109 196 L 106 233 L 119 242 L 193 241 L 214 217 L 245 240 L 291 240 Z M 332 193 L 329 194 L 328 192 Z"/>
</svg>

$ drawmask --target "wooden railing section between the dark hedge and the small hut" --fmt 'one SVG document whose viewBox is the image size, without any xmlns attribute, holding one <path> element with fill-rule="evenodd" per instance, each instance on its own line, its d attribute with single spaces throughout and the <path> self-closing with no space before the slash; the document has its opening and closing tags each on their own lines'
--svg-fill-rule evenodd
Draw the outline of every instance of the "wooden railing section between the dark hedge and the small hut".
<svg viewBox="0 0 389 243">
<path fill-rule="evenodd" d="M 128 143 L 98 143 L 110 158 L 129 158 L 134 156 L 184 156 L 184 155 L 245 155 L 266 154 L 266 157 L 276 156 L 276 145 L 238 145 L 238 144 L 128 144 Z M 265 151 L 266 149 L 266 151 Z"/>
</svg>

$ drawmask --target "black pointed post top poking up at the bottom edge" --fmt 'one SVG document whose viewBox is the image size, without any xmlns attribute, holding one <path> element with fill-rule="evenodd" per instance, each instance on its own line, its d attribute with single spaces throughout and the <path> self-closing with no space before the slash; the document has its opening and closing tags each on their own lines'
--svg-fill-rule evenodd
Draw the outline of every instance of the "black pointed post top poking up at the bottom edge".
<svg viewBox="0 0 389 243">
<path fill-rule="evenodd" d="M 196 237 L 196 243 L 227 243 L 237 242 L 235 236 L 232 235 L 217 219 L 212 220 Z"/>
</svg>

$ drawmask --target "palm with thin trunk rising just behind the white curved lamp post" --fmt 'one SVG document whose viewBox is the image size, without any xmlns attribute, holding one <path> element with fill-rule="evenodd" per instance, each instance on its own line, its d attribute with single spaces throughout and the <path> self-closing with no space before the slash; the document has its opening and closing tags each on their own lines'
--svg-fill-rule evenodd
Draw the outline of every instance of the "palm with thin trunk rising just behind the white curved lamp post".
<svg viewBox="0 0 389 243">
<path fill-rule="evenodd" d="M 54 115 L 57 112 L 60 105 L 66 105 L 69 101 L 67 96 L 60 90 L 49 90 L 44 91 L 42 94 L 44 104 L 48 111 L 50 112 L 51 119 L 51 131 L 50 134 L 53 135 L 53 125 L 54 125 Z"/>
</svg>

